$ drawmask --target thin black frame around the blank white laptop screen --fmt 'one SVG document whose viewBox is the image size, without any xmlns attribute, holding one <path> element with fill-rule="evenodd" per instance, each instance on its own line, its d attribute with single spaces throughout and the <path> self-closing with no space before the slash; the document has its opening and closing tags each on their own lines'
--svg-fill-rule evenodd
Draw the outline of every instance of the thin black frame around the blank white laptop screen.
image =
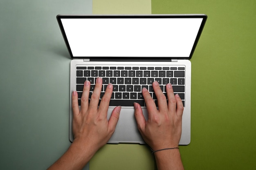
<svg viewBox="0 0 256 170">
<path fill-rule="evenodd" d="M 65 34 L 65 30 L 63 27 L 63 24 L 61 22 L 61 19 L 63 18 L 202 18 L 202 23 L 200 25 L 200 29 L 198 31 L 198 34 L 195 38 L 195 42 L 193 44 L 191 53 L 189 55 L 189 57 L 157 57 L 157 61 L 169 61 L 171 59 L 191 59 L 194 51 L 195 51 L 195 47 L 198 44 L 200 35 L 202 33 L 202 30 L 204 28 L 205 22 L 207 20 L 207 15 L 205 14 L 150 14 L 150 15 L 57 15 L 56 16 L 57 20 L 58 20 L 58 24 L 60 26 L 61 29 L 61 33 L 63 35 L 63 38 L 65 40 L 65 44 L 67 46 L 67 49 L 70 53 L 70 57 L 72 59 L 90 59 L 90 60 L 101 60 L 101 61 L 110 61 L 110 60 L 114 60 L 114 61 L 130 61 L 130 60 L 134 60 L 134 61 L 145 61 L 146 60 L 156 60 L 156 57 L 90 57 L 90 56 L 84 56 L 84 57 L 77 57 L 77 56 L 73 56 L 69 42 L 67 40 L 67 36 Z"/>
</svg>

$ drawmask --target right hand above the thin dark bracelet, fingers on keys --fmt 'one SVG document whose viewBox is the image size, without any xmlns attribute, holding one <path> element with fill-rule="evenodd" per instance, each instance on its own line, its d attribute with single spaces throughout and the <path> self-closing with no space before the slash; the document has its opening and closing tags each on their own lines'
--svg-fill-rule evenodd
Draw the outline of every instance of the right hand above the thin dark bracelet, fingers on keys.
<svg viewBox="0 0 256 170">
<path fill-rule="evenodd" d="M 153 89 L 157 97 L 157 110 L 154 100 L 146 88 L 142 94 L 148 110 L 148 120 L 142 114 L 141 106 L 137 103 L 135 107 L 135 118 L 141 136 L 152 150 L 178 147 L 182 132 L 183 104 L 179 95 L 173 94 L 171 84 L 166 85 L 168 105 L 166 97 L 162 93 L 159 84 L 153 82 Z"/>
</svg>

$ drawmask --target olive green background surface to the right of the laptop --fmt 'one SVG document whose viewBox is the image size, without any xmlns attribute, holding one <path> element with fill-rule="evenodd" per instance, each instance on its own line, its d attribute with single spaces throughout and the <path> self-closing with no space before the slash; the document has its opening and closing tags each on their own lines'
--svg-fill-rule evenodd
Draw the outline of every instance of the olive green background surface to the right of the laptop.
<svg viewBox="0 0 256 170">
<path fill-rule="evenodd" d="M 152 13 L 205 13 L 191 59 L 186 170 L 256 169 L 256 1 L 152 0 Z"/>
</svg>

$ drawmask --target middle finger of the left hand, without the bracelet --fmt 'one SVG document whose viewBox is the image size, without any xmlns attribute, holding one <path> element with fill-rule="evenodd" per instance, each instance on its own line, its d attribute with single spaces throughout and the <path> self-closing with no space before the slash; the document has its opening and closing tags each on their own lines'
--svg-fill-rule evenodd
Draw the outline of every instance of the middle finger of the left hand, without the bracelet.
<svg viewBox="0 0 256 170">
<path fill-rule="evenodd" d="M 102 79 L 97 77 L 94 91 L 91 96 L 89 108 L 97 109 L 99 105 L 99 96 L 101 95 Z"/>
</svg>

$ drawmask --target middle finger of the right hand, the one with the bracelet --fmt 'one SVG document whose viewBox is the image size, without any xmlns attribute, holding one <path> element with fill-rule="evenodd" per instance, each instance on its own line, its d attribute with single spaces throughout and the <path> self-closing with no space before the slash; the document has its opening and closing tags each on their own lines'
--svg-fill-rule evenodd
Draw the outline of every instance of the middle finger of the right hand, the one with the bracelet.
<svg viewBox="0 0 256 170">
<path fill-rule="evenodd" d="M 159 111 L 168 110 L 166 97 L 165 97 L 164 93 L 162 92 L 158 82 L 155 81 L 155 82 L 153 82 L 152 85 L 153 85 L 155 95 L 157 97 L 157 104 L 158 104 Z"/>
</svg>

